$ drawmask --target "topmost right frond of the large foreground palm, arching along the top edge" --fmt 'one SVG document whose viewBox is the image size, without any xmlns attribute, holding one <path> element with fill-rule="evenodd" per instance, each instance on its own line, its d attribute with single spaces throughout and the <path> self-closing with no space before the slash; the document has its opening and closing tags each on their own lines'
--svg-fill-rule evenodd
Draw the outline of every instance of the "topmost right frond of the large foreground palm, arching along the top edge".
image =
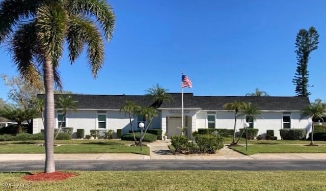
<svg viewBox="0 0 326 191">
<path fill-rule="evenodd" d="M 66 3 L 70 14 L 86 14 L 95 16 L 104 32 L 105 39 L 109 41 L 115 30 L 116 17 L 113 8 L 105 0 L 72 0 Z"/>
</svg>

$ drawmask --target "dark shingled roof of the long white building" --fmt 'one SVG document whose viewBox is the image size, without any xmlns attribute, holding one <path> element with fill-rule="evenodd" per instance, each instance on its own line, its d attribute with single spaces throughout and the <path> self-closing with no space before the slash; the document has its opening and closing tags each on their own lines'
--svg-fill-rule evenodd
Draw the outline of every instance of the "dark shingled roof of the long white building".
<svg viewBox="0 0 326 191">
<path fill-rule="evenodd" d="M 164 102 L 160 108 L 181 108 L 181 93 L 169 93 L 173 98 Z M 44 95 L 38 95 L 44 97 Z M 80 109 L 120 110 L 127 100 L 142 106 L 151 105 L 154 100 L 143 95 L 79 95 L 71 94 L 78 101 Z M 55 95 L 55 99 L 58 95 Z M 194 96 L 193 93 L 184 93 L 184 108 L 199 107 L 203 110 L 224 110 L 223 105 L 234 100 L 251 102 L 260 110 L 300 111 L 310 104 L 308 97 L 257 97 L 257 96 Z"/>
</svg>

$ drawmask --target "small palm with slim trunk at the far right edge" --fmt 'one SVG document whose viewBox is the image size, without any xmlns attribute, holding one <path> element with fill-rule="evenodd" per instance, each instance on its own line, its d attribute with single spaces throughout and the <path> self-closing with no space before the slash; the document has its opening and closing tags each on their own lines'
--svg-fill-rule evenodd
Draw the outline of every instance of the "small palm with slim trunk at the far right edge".
<svg viewBox="0 0 326 191">
<path fill-rule="evenodd" d="M 301 119 L 304 117 L 309 116 L 312 121 L 324 121 L 322 117 L 326 117 L 326 103 L 322 102 L 320 99 L 316 99 L 315 102 L 312 104 L 304 107 L 301 111 Z M 310 145 L 314 145 L 314 124 L 312 122 L 312 129 L 311 129 L 311 140 Z"/>
</svg>

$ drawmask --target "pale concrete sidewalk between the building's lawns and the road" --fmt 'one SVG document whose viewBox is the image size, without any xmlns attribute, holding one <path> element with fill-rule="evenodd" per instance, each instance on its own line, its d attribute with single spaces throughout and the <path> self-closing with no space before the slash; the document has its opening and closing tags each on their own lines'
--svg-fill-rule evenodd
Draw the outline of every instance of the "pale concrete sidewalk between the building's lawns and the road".
<svg viewBox="0 0 326 191">
<path fill-rule="evenodd" d="M 273 153 L 244 155 L 228 147 L 215 154 L 174 155 L 167 141 L 150 143 L 150 156 L 132 153 L 55 154 L 55 160 L 326 160 L 326 153 Z M 0 154 L 0 162 L 45 160 L 45 154 Z"/>
</svg>

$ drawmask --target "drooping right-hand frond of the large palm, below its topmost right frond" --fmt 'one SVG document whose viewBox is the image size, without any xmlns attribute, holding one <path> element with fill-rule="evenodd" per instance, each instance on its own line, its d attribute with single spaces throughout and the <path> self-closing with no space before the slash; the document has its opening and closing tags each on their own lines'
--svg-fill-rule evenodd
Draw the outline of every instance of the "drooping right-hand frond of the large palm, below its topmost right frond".
<svg viewBox="0 0 326 191">
<path fill-rule="evenodd" d="M 102 68 L 104 63 L 104 43 L 101 38 L 101 34 L 97 29 L 96 25 L 87 18 L 83 17 L 74 17 L 70 20 L 68 24 L 68 34 L 70 34 L 70 38 L 68 38 L 69 48 L 74 46 L 73 40 L 79 38 L 86 42 L 87 44 L 87 57 L 89 60 L 89 65 L 92 70 L 93 77 L 97 77 L 98 71 Z M 70 54 L 71 62 L 74 61 L 76 56 L 80 54 L 80 41 L 78 42 L 78 46 L 76 48 L 69 49 L 72 50 L 72 54 Z"/>
</svg>

